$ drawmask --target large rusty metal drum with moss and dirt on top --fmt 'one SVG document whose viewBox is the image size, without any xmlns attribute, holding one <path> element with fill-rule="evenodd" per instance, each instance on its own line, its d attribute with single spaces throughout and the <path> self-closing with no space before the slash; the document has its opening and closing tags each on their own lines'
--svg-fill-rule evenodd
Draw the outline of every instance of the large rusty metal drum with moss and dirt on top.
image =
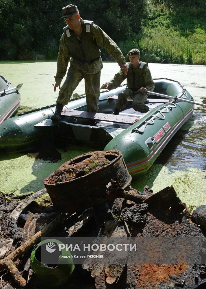
<svg viewBox="0 0 206 289">
<path fill-rule="evenodd" d="M 111 179 L 122 188 L 131 182 L 122 153 L 95 151 L 62 164 L 44 180 L 56 210 L 74 213 L 106 201 Z"/>
</svg>

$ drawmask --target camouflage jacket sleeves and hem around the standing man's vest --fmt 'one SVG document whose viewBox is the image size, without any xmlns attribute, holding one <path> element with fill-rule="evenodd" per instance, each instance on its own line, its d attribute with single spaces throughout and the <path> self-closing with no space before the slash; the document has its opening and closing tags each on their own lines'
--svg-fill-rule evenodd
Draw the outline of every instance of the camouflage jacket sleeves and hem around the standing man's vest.
<svg viewBox="0 0 206 289">
<path fill-rule="evenodd" d="M 80 21 L 81 24 L 85 24 L 83 19 L 80 18 Z M 77 37 L 77 40 L 81 40 L 81 38 L 76 34 L 75 36 Z M 105 48 L 117 60 L 118 64 L 125 63 L 124 55 L 116 43 L 100 27 L 95 24 L 92 25 L 92 39 L 96 42 L 98 47 Z M 66 45 L 66 41 L 67 36 L 64 32 L 60 39 L 60 47 L 57 59 L 57 74 L 54 77 L 56 82 L 61 82 L 65 76 L 69 60 L 70 65 L 74 65 L 77 69 L 87 74 L 95 74 L 103 68 L 101 57 L 92 64 L 82 64 L 78 60 L 70 58 L 71 55 L 68 49 L 68 45 Z M 88 47 L 88 49 L 90 49 L 90 47 Z"/>
</svg>

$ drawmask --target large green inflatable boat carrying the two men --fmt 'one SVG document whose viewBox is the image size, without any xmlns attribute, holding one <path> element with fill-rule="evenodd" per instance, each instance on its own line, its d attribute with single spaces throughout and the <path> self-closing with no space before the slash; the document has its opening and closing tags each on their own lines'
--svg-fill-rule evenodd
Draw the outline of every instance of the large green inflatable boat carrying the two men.
<svg viewBox="0 0 206 289">
<path fill-rule="evenodd" d="M 118 93 L 126 88 L 123 85 L 101 92 L 97 113 L 86 112 L 83 96 L 70 100 L 58 122 L 50 120 L 55 105 L 4 121 L 0 125 L 0 148 L 27 150 L 44 145 L 48 138 L 87 146 L 95 144 L 98 149 L 120 150 L 132 176 L 144 173 L 194 110 L 194 99 L 178 81 L 161 78 L 154 82 L 146 114 L 134 111 L 131 101 L 118 116 L 112 114 Z M 96 126 L 90 125 L 91 120 L 96 120 Z"/>
</svg>

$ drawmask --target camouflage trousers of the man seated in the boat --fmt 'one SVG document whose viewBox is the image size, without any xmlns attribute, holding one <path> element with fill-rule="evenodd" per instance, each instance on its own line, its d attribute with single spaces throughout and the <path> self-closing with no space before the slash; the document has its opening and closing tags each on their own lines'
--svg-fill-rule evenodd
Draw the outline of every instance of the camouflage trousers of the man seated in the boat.
<svg viewBox="0 0 206 289">
<path fill-rule="evenodd" d="M 118 94 L 118 99 L 115 108 L 122 110 L 127 101 L 132 101 L 132 107 L 135 111 L 148 112 L 149 108 L 144 103 L 146 102 L 147 95 L 142 92 L 133 92 L 130 88 L 126 88 L 122 93 Z"/>
</svg>

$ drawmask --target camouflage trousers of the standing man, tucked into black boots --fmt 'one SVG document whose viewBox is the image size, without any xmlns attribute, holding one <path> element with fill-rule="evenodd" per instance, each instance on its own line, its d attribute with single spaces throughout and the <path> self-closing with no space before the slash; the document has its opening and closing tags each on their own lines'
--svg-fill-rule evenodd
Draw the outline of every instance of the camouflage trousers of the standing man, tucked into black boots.
<svg viewBox="0 0 206 289">
<path fill-rule="evenodd" d="M 70 65 L 66 80 L 60 89 L 57 103 L 66 105 L 70 101 L 73 91 L 84 78 L 87 111 L 97 112 L 99 108 L 100 75 L 101 71 L 96 74 L 86 74 L 78 70 L 75 66 Z"/>
</svg>

